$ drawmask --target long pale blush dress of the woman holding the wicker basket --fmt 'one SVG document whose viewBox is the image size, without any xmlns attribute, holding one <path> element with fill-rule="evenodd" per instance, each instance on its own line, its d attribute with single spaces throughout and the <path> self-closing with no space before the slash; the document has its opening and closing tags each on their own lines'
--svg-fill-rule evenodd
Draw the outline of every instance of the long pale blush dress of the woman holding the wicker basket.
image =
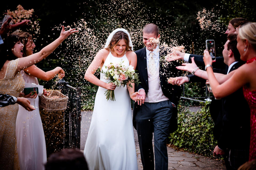
<svg viewBox="0 0 256 170">
<path fill-rule="evenodd" d="M 26 83 L 38 84 L 37 78 L 21 71 Z M 33 99 L 27 98 L 33 105 Z M 35 98 L 35 106 L 38 107 L 39 99 Z M 39 108 L 27 111 L 19 105 L 16 119 L 17 150 L 21 170 L 43 170 L 47 161 L 45 134 Z"/>
</svg>

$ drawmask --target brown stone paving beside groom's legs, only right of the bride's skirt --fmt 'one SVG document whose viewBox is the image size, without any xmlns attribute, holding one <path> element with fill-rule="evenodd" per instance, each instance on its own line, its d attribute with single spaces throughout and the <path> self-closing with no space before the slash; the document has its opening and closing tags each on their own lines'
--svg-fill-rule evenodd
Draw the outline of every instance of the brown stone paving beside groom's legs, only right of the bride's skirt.
<svg viewBox="0 0 256 170">
<path fill-rule="evenodd" d="M 189 152 L 176 151 L 167 146 L 168 169 L 175 170 L 221 170 L 226 169 L 223 161 L 209 159 L 205 156 L 190 154 Z M 138 170 L 142 170 L 141 154 L 136 146 Z"/>
</svg>

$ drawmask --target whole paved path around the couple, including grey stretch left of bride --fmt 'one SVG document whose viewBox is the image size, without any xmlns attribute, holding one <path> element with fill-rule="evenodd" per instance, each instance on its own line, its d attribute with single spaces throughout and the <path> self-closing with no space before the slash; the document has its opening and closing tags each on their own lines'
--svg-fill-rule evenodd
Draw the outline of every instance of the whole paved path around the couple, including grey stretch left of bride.
<svg viewBox="0 0 256 170">
<path fill-rule="evenodd" d="M 92 111 L 82 111 L 81 122 L 81 150 L 84 150 L 87 134 L 90 127 Z M 226 169 L 222 161 L 209 159 L 204 156 L 190 154 L 188 152 L 176 151 L 167 147 L 168 151 L 168 169 L 175 170 L 217 170 Z M 141 154 L 139 146 L 136 145 L 138 170 L 142 170 Z"/>
</svg>

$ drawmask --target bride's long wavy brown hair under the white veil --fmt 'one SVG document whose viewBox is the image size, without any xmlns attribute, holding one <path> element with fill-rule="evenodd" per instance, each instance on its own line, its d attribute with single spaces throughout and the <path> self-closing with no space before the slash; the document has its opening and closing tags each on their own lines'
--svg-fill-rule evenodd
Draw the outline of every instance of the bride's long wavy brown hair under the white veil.
<svg viewBox="0 0 256 170">
<path fill-rule="evenodd" d="M 107 48 L 105 48 L 105 49 L 110 49 L 110 51 L 113 52 L 114 46 L 117 45 L 117 43 L 118 43 L 120 40 L 122 40 L 122 39 L 125 40 L 125 43 L 126 43 L 125 51 L 132 51 L 132 50 L 131 50 L 131 47 L 129 46 L 129 36 L 128 36 L 126 33 L 124 33 L 123 31 L 118 31 L 118 32 L 116 32 L 116 33 L 113 35 L 113 37 L 112 37 L 112 39 L 111 39 L 109 45 L 108 45 Z"/>
</svg>

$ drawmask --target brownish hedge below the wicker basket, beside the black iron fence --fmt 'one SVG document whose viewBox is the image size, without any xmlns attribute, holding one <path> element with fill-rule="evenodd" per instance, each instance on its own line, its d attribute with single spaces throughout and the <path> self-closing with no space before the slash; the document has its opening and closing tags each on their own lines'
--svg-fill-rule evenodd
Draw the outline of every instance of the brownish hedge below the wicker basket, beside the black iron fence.
<svg viewBox="0 0 256 170">
<path fill-rule="evenodd" d="M 47 157 L 63 149 L 64 141 L 64 113 L 63 111 L 46 112 L 39 107 L 40 116 L 45 133 Z"/>
</svg>

